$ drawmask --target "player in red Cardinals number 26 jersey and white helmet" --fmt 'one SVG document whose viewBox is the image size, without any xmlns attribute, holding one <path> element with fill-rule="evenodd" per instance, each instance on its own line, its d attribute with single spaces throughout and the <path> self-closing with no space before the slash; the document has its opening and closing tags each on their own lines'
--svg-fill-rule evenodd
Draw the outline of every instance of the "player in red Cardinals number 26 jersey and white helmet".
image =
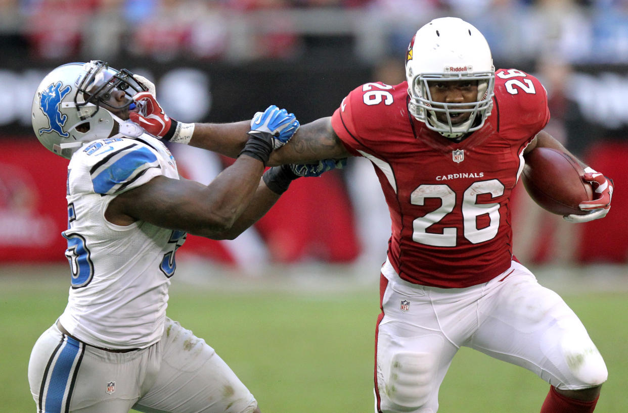
<svg viewBox="0 0 628 413">
<path fill-rule="evenodd" d="M 271 158 L 363 156 L 376 170 L 392 219 L 376 330 L 377 411 L 436 412 L 440 384 L 464 346 L 548 382 L 541 413 L 593 412 L 607 379 L 602 356 L 575 313 L 512 254 L 509 199 L 526 154 L 567 152 L 543 131 L 546 91 L 523 71 L 495 71 L 484 36 L 457 18 L 416 32 L 406 78 L 355 88 L 332 117 L 302 125 Z M 169 129 L 176 135 L 179 126 Z M 236 154 L 242 142 L 231 132 L 248 127 L 196 124 L 187 142 Z M 612 181 L 585 170 L 595 199 L 567 221 L 609 211 Z M 278 193 L 293 177 L 285 166 L 264 174 Z"/>
</svg>

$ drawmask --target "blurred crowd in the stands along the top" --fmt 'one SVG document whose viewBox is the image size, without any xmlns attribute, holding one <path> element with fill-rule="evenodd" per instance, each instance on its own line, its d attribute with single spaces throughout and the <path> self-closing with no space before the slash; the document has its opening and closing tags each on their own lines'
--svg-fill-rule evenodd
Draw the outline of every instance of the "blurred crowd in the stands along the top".
<svg viewBox="0 0 628 413">
<path fill-rule="evenodd" d="M 371 60 L 445 15 L 477 26 L 497 60 L 628 62 L 628 0 L 0 0 L 0 51 L 247 61 L 330 49 Z"/>
</svg>

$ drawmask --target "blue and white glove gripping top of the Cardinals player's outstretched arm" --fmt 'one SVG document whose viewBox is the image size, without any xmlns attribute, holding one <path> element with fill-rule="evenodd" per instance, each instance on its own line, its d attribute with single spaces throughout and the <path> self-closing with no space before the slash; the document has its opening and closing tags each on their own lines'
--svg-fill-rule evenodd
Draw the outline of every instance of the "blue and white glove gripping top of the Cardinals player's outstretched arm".
<svg viewBox="0 0 628 413">
<path fill-rule="evenodd" d="M 300 123 L 294 113 L 271 105 L 251 119 L 249 135 L 269 140 L 273 149 L 282 147 L 298 130 Z"/>
</svg>

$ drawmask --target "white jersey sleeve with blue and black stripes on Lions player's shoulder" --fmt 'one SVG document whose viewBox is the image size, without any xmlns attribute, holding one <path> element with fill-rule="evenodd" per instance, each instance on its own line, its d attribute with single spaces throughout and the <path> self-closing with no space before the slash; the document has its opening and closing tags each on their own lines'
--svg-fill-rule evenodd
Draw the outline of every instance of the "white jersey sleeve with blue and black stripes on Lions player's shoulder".
<svg viewBox="0 0 628 413">
<path fill-rule="evenodd" d="M 76 158 L 75 164 L 89 175 L 89 181 L 83 181 L 86 187 L 76 188 L 80 192 L 117 195 L 163 175 L 160 154 L 133 139 L 97 140 Z"/>
</svg>

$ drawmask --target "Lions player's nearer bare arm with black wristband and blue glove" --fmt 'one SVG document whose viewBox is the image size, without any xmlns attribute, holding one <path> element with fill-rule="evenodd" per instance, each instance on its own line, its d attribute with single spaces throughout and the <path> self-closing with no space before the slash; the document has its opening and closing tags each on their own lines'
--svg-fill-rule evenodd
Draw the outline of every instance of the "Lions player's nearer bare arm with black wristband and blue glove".
<svg viewBox="0 0 628 413">
<path fill-rule="evenodd" d="M 294 115 L 276 107 L 257 113 L 254 120 L 236 162 L 208 186 L 154 177 L 114 198 L 107 220 L 124 226 L 140 220 L 207 238 L 235 238 L 278 199 L 260 177 L 273 149 L 283 144 L 277 140 L 287 140 L 298 128 Z"/>
</svg>

